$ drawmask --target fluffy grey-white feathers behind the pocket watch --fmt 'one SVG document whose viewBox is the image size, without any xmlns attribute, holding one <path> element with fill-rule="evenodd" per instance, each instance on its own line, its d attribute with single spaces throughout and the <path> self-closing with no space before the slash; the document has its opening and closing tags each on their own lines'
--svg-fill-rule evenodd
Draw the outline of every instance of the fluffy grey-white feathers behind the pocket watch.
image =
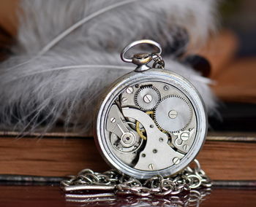
<svg viewBox="0 0 256 207">
<path fill-rule="evenodd" d="M 214 31 L 215 1 L 21 0 L 18 44 L 0 65 L 0 126 L 28 130 L 56 122 L 89 132 L 97 95 L 134 69 L 118 52 L 129 42 L 176 41 L 184 28 L 194 47 Z M 215 101 L 208 79 L 171 56 L 166 68 L 187 77 L 208 111 Z"/>
</svg>

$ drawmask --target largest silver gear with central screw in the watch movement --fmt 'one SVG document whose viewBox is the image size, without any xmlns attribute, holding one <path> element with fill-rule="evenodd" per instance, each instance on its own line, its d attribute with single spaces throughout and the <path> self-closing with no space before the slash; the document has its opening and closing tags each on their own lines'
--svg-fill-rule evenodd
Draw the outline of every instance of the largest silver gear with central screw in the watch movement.
<svg viewBox="0 0 256 207">
<path fill-rule="evenodd" d="M 167 95 L 162 98 L 154 113 L 158 127 L 170 133 L 184 130 L 191 119 L 192 106 L 179 95 Z"/>
</svg>

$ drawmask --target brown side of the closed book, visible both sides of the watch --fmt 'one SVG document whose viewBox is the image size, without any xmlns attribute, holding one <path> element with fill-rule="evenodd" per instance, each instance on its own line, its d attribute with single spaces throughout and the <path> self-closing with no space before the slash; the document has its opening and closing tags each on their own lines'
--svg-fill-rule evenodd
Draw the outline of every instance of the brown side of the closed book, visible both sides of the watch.
<svg viewBox="0 0 256 207">
<path fill-rule="evenodd" d="M 48 133 L 44 138 L 35 138 L 38 134 L 23 138 L 15 138 L 15 133 L 0 136 L 0 174 L 67 176 L 83 168 L 110 168 L 91 137 L 74 133 Z M 210 134 L 197 159 L 211 179 L 256 181 L 255 149 L 256 134 Z"/>
</svg>

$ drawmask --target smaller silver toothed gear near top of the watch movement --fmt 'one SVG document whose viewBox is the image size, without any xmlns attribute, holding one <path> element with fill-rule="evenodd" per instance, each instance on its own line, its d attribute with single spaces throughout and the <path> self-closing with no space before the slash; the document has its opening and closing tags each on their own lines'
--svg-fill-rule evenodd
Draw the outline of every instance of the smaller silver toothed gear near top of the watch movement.
<svg viewBox="0 0 256 207">
<path fill-rule="evenodd" d="M 135 93 L 135 104 L 143 111 L 150 111 L 157 106 L 160 98 L 159 90 L 156 87 L 144 86 Z"/>
</svg>

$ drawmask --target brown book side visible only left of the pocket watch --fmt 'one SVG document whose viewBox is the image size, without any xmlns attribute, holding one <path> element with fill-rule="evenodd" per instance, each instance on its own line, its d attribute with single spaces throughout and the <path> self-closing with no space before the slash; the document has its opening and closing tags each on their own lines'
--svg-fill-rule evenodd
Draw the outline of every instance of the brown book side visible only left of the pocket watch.
<svg viewBox="0 0 256 207">
<path fill-rule="evenodd" d="M 0 165 L 1 174 L 35 176 L 67 176 L 83 168 L 108 169 L 92 138 L 1 138 Z"/>
</svg>

